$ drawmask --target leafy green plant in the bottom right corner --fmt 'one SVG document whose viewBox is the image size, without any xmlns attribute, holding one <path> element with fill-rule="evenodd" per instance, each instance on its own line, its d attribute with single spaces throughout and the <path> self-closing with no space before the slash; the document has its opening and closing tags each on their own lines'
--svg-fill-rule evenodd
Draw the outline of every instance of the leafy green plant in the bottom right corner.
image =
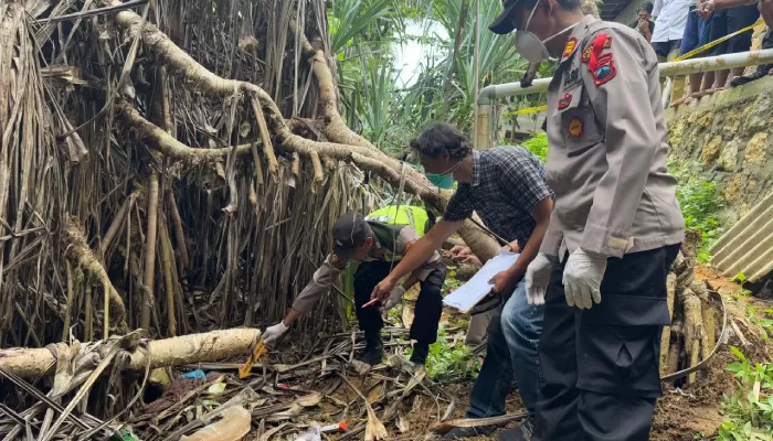
<svg viewBox="0 0 773 441">
<path fill-rule="evenodd" d="M 735 389 L 722 397 L 724 415 L 719 427 L 720 441 L 771 441 L 773 437 L 773 364 L 752 364 L 734 346 L 738 358 L 728 370 L 735 373 Z"/>
</svg>

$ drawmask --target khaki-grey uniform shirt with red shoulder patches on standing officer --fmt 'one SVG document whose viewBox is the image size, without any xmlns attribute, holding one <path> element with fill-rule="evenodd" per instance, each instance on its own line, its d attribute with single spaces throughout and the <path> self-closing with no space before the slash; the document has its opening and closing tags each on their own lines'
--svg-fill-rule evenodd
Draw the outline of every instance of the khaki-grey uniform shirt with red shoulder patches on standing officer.
<svg viewBox="0 0 773 441">
<path fill-rule="evenodd" d="M 542 252 L 622 257 L 682 240 L 657 60 L 636 31 L 580 22 L 548 89 L 547 131 L 555 208 Z"/>
</svg>

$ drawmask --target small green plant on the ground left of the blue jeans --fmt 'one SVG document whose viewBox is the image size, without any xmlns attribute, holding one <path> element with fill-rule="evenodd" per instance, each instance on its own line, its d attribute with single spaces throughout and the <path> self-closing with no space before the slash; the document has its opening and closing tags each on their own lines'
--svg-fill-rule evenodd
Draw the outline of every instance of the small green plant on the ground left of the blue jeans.
<svg viewBox="0 0 773 441">
<path fill-rule="evenodd" d="M 446 332 L 441 324 L 437 342 L 430 345 L 430 356 L 426 359 L 426 373 L 436 381 L 456 381 L 473 378 L 480 370 L 480 359 L 464 344 L 464 338 L 457 338 L 452 345 L 446 338 Z M 407 351 L 411 356 L 412 348 Z"/>
</svg>

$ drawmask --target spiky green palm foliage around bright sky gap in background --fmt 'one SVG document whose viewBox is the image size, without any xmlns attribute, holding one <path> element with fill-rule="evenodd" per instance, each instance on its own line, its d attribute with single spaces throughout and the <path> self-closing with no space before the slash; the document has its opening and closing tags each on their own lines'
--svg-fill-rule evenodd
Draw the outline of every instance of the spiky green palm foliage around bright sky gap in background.
<svg viewBox="0 0 773 441">
<path fill-rule="evenodd" d="M 391 154 L 403 151 L 433 120 L 472 132 L 475 3 L 336 0 L 329 4 L 330 50 L 338 64 L 341 114 L 350 128 Z M 463 4 L 467 6 L 466 19 L 459 50 L 454 54 Z M 501 2 L 481 2 L 480 7 L 479 86 L 517 80 L 528 63 L 517 54 L 511 36 L 496 35 L 485 28 L 501 10 Z M 407 24 L 419 24 L 424 32 L 409 35 Z M 421 43 L 431 54 L 421 61 L 415 82 L 406 87 L 400 84 L 401 66 L 394 66 L 394 53 L 398 44 L 410 41 Z"/>
</svg>

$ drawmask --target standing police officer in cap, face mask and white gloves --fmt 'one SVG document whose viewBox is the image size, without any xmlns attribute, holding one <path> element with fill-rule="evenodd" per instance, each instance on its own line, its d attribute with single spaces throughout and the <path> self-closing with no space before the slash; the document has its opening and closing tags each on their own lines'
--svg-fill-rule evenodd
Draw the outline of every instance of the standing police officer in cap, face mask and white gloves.
<svg viewBox="0 0 773 441">
<path fill-rule="evenodd" d="M 526 272 L 529 299 L 546 302 L 532 440 L 645 441 L 685 229 L 657 56 L 635 30 L 583 15 L 580 0 L 510 0 L 489 29 L 517 29 L 530 63 L 559 63 L 546 164 L 555 205 Z"/>
</svg>

